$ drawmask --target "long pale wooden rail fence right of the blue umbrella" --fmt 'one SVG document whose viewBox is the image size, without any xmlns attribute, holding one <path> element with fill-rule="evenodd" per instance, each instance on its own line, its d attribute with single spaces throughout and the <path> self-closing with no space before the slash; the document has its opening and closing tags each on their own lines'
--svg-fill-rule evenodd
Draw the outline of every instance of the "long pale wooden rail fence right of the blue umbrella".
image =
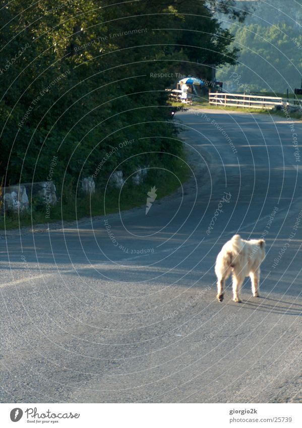
<svg viewBox="0 0 302 428">
<path fill-rule="evenodd" d="M 233 105 L 247 108 L 274 108 L 275 105 L 283 105 L 283 99 L 279 97 L 228 94 L 226 92 L 209 92 L 209 102 L 214 105 Z"/>
</svg>

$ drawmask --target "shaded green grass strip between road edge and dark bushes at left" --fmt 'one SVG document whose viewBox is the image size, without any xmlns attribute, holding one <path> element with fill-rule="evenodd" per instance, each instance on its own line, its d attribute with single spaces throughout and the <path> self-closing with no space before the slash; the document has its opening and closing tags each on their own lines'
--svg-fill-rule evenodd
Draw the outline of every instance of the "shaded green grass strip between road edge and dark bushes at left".
<svg viewBox="0 0 302 428">
<path fill-rule="evenodd" d="M 184 160 L 185 155 L 182 156 Z M 162 165 L 165 163 L 162 162 Z M 166 169 L 165 169 L 166 168 Z M 94 195 L 76 195 L 72 190 L 72 183 L 63 187 L 58 192 L 59 202 L 51 207 L 50 218 L 46 218 L 46 209 L 43 205 L 31 204 L 29 213 L 7 213 L 2 217 L 0 229 L 15 229 L 23 226 L 31 226 L 55 221 L 72 221 L 83 217 L 99 216 L 116 213 L 119 210 L 128 210 L 146 205 L 147 193 L 151 188 L 156 188 L 156 200 L 175 192 L 191 175 L 191 170 L 181 159 L 176 159 L 173 164 L 166 167 L 149 169 L 146 179 L 140 185 L 134 185 L 129 179 L 122 189 L 107 187 L 105 182 L 96 185 Z M 171 171 L 171 172 L 170 172 Z"/>
</svg>

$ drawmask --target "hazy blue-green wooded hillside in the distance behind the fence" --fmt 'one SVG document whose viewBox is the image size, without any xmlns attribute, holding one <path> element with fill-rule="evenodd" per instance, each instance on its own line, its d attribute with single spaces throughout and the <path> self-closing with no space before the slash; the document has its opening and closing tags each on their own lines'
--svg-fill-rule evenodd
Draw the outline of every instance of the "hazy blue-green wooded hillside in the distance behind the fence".
<svg viewBox="0 0 302 428">
<path fill-rule="evenodd" d="M 253 7 L 243 24 L 230 24 L 239 64 L 223 67 L 217 79 L 228 92 L 279 92 L 301 87 L 302 0 L 236 2 Z M 286 4 L 286 8 L 284 7 Z M 277 9 L 281 11 L 278 11 Z"/>
</svg>

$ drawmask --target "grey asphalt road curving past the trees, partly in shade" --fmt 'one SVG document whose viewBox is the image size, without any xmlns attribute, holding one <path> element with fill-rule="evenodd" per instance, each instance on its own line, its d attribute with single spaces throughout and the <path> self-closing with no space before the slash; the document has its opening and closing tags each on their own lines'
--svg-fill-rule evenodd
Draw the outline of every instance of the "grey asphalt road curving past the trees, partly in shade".
<svg viewBox="0 0 302 428">
<path fill-rule="evenodd" d="M 302 123 L 175 120 L 193 165 L 176 195 L 1 240 L 1 402 L 302 401 Z M 265 234 L 261 298 L 247 279 L 232 302 L 229 279 L 219 303 L 213 265 L 237 232 Z"/>
</svg>

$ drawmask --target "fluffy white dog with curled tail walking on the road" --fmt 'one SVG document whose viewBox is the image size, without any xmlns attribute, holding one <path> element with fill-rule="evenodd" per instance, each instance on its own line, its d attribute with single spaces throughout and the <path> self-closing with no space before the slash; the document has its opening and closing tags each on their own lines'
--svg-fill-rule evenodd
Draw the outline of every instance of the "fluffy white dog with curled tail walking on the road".
<svg viewBox="0 0 302 428">
<path fill-rule="evenodd" d="M 233 300 L 241 302 L 241 285 L 246 276 L 252 281 L 254 297 L 259 297 L 260 265 L 265 258 L 265 240 L 246 241 L 240 235 L 234 235 L 222 247 L 216 259 L 215 273 L 217 281 L 217 298 L 223 300 L 224 283 L 232 272 Z"/>
</svg>

